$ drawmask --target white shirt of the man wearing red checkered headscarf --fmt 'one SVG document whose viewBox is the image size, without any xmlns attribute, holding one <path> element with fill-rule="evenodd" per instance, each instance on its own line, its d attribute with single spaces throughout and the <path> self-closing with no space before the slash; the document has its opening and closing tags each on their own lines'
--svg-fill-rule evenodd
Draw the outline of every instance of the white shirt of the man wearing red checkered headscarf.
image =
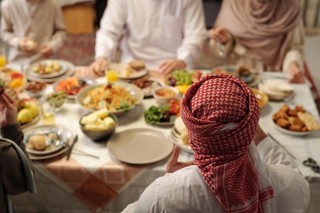
<svg viewBox="0 0 320 213">
<path fill-rule="evenodd" d="M 309 184 L 297 172 L 294 162 L 269 137 L 261 141 L 258 149 L 254 143 L 249 149 L 255 158 L 255 168 L 259 167 L 260 174 L 272 183 L 277 212 L 305 212 L 310 200 Z M 157 178 L 138 201 L 122 212 L 224 213 L 225 210 L 198 167 L 192 165 Z"/>
</svg>

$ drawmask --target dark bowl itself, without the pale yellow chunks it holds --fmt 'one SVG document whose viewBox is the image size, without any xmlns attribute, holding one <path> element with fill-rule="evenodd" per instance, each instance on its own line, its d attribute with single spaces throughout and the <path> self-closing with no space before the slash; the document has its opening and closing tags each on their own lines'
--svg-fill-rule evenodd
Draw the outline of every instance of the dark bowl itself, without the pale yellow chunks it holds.
<svg viewBox="0 0 320 213">
<path fill-rule="evenodd" d="M 116 127 L 118 126 L 118 118 L 115 114 L 109 114 L 110 117 L 112 117 L 113 121 L 115 121 L 115 124 L 111 127 L 109 127 L 108 129 L 104 129 L 104 130 L 88 130 L 84 128 L 84 125 L 80 124 L 80 121 L 82 119 L 80 119 L 79 124 L 80 124 L 80 128 L 81 131 L 83 132 L 83 134 L 85 134 L 87 137 L 89 137 L 90 139 L 94 140 L 94 141 L 102 141 L 104 139 L 106 139 L 107 137 L 109 137 L 110 135 L 113 134 L 113 132 L 115 132 Z"/>
</svg>

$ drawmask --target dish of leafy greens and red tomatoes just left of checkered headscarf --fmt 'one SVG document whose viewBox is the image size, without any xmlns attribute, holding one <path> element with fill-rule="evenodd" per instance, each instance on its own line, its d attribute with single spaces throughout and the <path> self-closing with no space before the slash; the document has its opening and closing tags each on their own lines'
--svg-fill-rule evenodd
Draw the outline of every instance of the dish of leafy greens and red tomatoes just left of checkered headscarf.
<svg viewBox="0 0 320 213">
<path fill-rule="evenodd" d="M 180 100 L 171 99 L 169 104 L 159 107 L 151 106 L 145 110 L 144 117 L 147 124 L 173 125 L 180 115 Z"/>
</svg>

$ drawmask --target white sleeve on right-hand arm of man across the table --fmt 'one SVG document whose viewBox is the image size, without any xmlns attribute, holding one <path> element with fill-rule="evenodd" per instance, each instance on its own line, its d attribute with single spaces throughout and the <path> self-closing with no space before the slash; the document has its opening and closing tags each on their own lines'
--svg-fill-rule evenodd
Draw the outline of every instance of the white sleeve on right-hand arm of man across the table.
<svg viewBox="0 0 320 213">
<path fill-rule="evenodd" d="M 193 68 L 194 60 L 202 50 L 202 45 L 207 38 L 204 12 L 200 0 L 192 0 L 185 11 L 184 39 L 177 50 L 177 59 L 184 61 L 188 68 Z"/>
</svg>

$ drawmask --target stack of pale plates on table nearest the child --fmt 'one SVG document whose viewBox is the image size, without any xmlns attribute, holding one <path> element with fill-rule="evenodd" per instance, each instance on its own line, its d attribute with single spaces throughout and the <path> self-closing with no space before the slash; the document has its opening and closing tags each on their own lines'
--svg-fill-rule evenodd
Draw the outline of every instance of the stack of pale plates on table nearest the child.
<svg viewBox="0 0 320 213">
<path fill-rule="evenodd" d="M 49 74 L 39 74 L 35 72 L 35 70 L 37 69 L 37 67 L 39 67 L 39 65 L 43 65 L 47 67 L 49 64 L 58 64 L 60 69 L 57 72 L 52 72 Z M 74 73 L 74 71 L 75 71 L 75 67 L 71 62 L 64 61 L 64 60 L 42 60 L 42 61 L 37 61 L 31 64 L 30 67 L 26 69 L 25 75 L 27 79 L 30 81 L 52 83 L 59 79 L 71 76 Z"/>
</svg>

